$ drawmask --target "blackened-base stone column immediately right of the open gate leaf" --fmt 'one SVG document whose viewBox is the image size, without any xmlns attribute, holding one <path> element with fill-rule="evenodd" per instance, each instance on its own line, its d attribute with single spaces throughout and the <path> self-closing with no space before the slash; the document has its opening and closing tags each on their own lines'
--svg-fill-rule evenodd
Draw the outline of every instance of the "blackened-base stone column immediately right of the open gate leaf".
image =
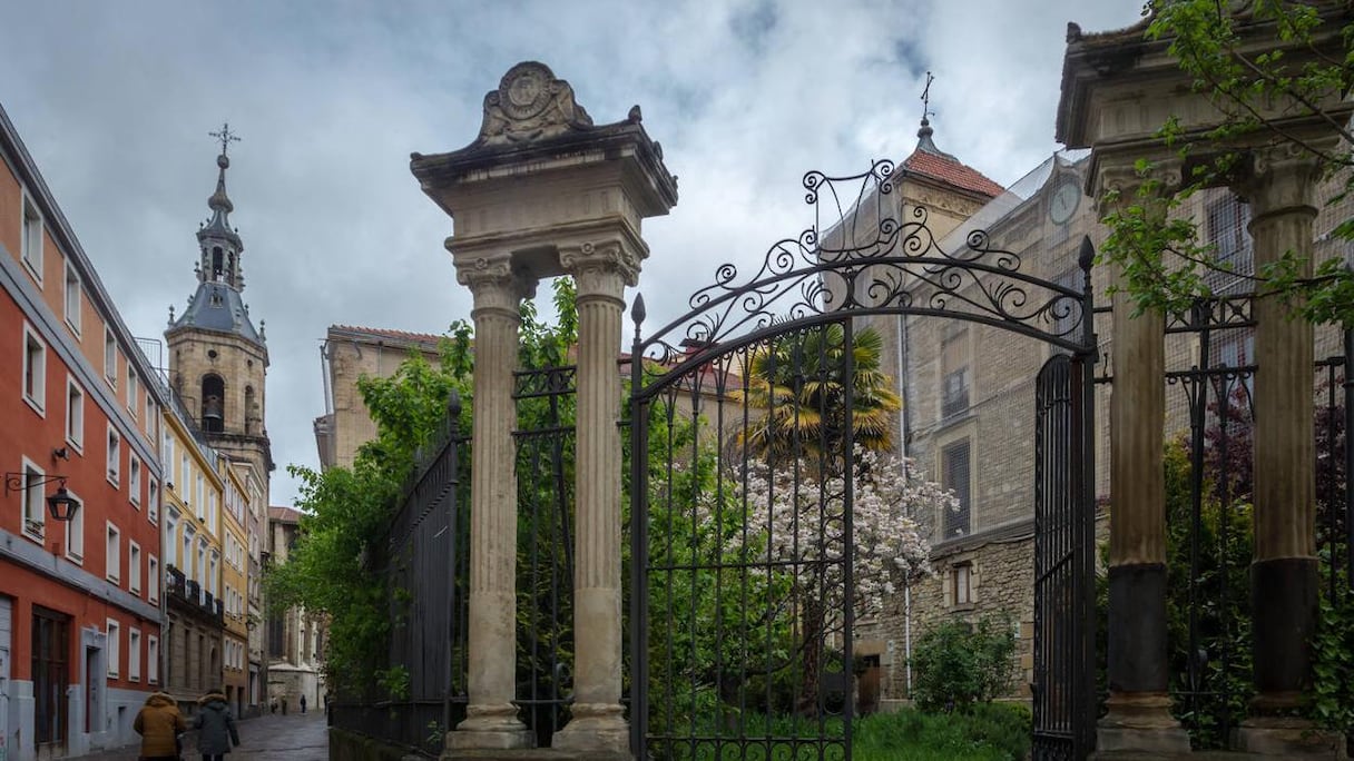
<svg viewBox="0 0 1354 761">
<path fill-rule="evenodd" d="M 1178 183 L 1167 165 L 1156 179 Z M 1137 203 L 1141 179 L 1131 167 L 1104 168 L 1101 194 Z M 1122 288 L 1122 271 L 1114 272 Z M 1113 295 L 1110 357 L 1109 712 L 1097 750 L 1189 752 L 1189 735 L 1170 715 L 1166 661 L 1166 325 L 1156 311 L 1133 317 L 1124 290 Z"/>
</svg>

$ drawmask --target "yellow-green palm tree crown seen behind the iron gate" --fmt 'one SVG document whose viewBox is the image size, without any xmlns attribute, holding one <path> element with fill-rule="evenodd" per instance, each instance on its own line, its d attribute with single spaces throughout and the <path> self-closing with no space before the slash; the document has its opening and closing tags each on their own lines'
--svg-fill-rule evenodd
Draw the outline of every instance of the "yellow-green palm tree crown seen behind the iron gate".
<svg viewBox="0 0 1354 761">
<path fill-rule="evenodd" d="M 738 432 L 749 454 L 784 462 L 844 454 L 850 425 L 854 444 L 892 448 L 892 414 L 902 408 L 879 367 L 884 341 L 873 328 L 852 336 L 850 410 L 845 409 L 846 337 L 841 324 L 789 333 L 754 347 L 746 387 L 733 394 L 756 416 Z"/>
</svg>

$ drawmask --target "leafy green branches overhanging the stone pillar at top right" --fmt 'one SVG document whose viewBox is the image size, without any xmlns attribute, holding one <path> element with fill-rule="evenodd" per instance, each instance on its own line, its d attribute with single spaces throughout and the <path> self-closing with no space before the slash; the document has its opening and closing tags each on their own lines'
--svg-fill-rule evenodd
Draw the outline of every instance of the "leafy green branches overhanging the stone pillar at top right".
<svg viewBox="0 0 1354 761">
<path fill-rule="evenodd" d="M 1323 20 L 1312 4 L 1259 0 L 1233 15 L 1236 8 L 1216 0 L 1150 0 L 1144 9 L 1152 15 L 1147 38 L 1167 42 L 1170 56 L 1221 121 L 1192 134 L 1177 118 L 1167 119 L 1158 138 L 1183 161 L 1181 181 L 1166 184 L 1156 165 L 1140 161 L 1143 183 L 1136 195 L 1108 198 L 1114 211 L 1104 219 L 1110 234 L 1098 261 L 1122 267 L 1124 288 L 1139 311 L 1181 311 L 1194 298 L 1212 295 L 1208 271 L 1231 271 L 1216 246 L 1200 240 L 1196 222 L 1175 215 L 1194 192 L 1238 176 L 1244 157 L 1231 146 L 1284 145 L 1316 157 L 1324 177 L 1342 188 L 1331 203 L 1354 190 L 1349 171 L 1354 134 L 1345 118 L 1330 111 L 1330 103 L 1340 102 L 1354 85 L 1354 24 L 1343 28 L 1340 50 L 1319 49 L 1315 41 Z M 1273 46 L 1247 47 L 1243 27 L 1270 30 Z M 1284 119 L 1316 115 L 1343 141 L 1339 148 L 1313 144 L 1288 130 L 1274 116 L 1278 112 Z M 1354 238 L 1354 219 L 1343 221 L 1334 234 Z M 1290 251 L 1261 267 L 1251 280 L 1258 294 L 1284 299 L 1305 320 L 1354 325 L 1354 275 L 1338 259 L 1312 271 L 1308 257 Z"/>
</svg>

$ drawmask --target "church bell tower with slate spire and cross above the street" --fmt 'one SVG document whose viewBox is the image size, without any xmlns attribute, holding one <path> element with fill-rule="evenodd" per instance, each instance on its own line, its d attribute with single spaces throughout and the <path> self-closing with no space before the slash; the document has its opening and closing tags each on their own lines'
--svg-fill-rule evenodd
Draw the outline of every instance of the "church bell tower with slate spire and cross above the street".
<svg viewBox="0 0 1354 761">
<path fill-rule="evenodd" d="M 207 441 L 253 463 L 267 483 L 274 469 L 264 428 L 268 345 L 263 321 L 256 330 L 241 297 L 245 246 L 230 226 L 234 204 L 226 195 L 227 149 L 240 138 L 229 125 L 211 135 L 221 141 L 217 191 L 207 199 L 211 217 L 198 230 L 198 290 L 177 320 L 169 311 L 169 382 Z"/>
</svg>

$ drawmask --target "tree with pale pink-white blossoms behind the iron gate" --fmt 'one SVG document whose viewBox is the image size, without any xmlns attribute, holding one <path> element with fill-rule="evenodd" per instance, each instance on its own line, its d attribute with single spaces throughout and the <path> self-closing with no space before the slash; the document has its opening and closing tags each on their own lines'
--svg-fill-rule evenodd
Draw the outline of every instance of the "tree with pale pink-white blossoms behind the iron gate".
<svg viewBox="0 0 1354 761">
<path fill-rule="evenodd" d="M 774 470 L 750 460 L 738 497 L 747 505 L 753 534 L 727 536 L 726 554 L 789 577 L 787 604 L 803 674 L 796 710 L 811 712 L 829 636 L 841 632 L 848 605 L 856 616 L 877 613 L 894 592 L 895 574 L 909 581 L 929 574 L 922 524 L 938 510 L 959 509 L 959 500 L 926 481 L 910 460 L 862 447 L 821 477 L 810 477 L 799 460 Z"/>
</svg>

